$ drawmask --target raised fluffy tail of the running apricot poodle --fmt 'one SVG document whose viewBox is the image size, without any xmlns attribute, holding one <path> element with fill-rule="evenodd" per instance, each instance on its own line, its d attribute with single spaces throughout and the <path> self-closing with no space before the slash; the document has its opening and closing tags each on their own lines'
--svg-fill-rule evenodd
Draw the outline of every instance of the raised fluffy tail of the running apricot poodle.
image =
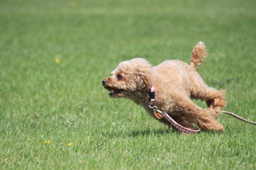
<svg viewBox="0 0 256 170">
<path fill-rule="evenodd" d="M 207 57 L 207 54 L 206 46 L 204 46 L 204 43 L 200 41 L 191 52 L 190 66 L 192 68 L 196 68 L 196 66 L 201 65 Z"/>
</svg>

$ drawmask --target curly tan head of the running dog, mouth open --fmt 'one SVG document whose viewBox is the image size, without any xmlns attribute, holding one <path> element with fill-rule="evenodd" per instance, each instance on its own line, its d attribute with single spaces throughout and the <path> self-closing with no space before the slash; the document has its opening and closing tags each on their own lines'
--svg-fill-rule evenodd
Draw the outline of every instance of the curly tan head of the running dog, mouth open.
<svg viewBox="0 0 256 170">
<path fill-rule="evenodd" d="M 152 85 L 151 65 L 142 58 L 119 63 L 111 74 L 102 81 L 111 98 L 132 98 L 132 94 L 147 92 Z"/>
</svg>

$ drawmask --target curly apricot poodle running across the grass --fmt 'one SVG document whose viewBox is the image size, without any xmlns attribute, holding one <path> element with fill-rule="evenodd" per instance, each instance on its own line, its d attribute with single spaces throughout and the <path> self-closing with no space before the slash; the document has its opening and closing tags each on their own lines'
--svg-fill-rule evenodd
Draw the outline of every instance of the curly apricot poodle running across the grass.
<svg viewBox="0 0 256 170">
<path fill-rule="evenodd" d="M 155 105 L 177 123 L 192 130 L 196 130 L 195 123 L 202 130 L 223 131 L 216 118 L 226 106 L 225 92 L 208 87 L 196 72 L 196 66 L 202 64 L 206 56 L 206 47 L 200 41 L 193 48 L 190 66 L 180 60 L 166 60 L 151 67 L 145 59 L 135 58 L 118 64 L 102 84 L 110 91 L 110 98 L 131 99 L 155 118 L 148 107 L 148 91 L 154 85 Z M 192 99 L 205 100 L 208 108 L 197 106 Z M 165 119 L 157 120 L 169 125 Z"/>
</svg>

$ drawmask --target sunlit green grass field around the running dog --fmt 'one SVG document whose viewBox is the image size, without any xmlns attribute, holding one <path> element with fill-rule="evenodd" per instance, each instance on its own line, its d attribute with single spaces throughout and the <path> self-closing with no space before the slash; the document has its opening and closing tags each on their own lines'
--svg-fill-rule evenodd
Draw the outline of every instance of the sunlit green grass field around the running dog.
<svg viewBox="0 0 256 170">
<path fill-rule="evenodd" d="M 0 0 L 0 169 L 256 169 L 254 125 L 221 114 L 225 132 L 182 135 L 101 83 L 136 57 L 189 63 L 204 41 L 198 72 L 226 90 L 226 111 L 256 121 L 255 11 L 252 0 Z"/>
</svg>

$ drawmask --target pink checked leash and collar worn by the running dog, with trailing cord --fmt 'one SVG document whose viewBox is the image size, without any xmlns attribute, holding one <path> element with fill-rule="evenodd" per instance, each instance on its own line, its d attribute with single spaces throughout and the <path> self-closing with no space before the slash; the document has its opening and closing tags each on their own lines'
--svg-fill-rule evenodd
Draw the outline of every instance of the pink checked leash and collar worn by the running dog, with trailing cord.
<svg viewBox="0 0 256 170">
<path fill-rule="evenodd" d="M 182 133 L 187 133 L 187 134 L 192 133 L 192 134 L 195 134 L 195 133 L 199 133 L 200 131 L 202 131 L 202 130 L 191 130 L 191 129 L 188 129 L 188 128 L 184 127 L 184 126 L 181 126 L 175 120 L 173 120 L 166 112 L 159 110 L 158 107 L 154 105 L 154 103 L 155 103 L 155 88 L 154 88 L 154 86 L 150 87 L 150 90 L 149 90 L 148 93 L 149 93 L 148 107 L 153 109 L 153 112 L 154 112 L 155 116 L 158 119 L 165 118 L 173 127 L 175 127 L 177 130 L 181 131 Z M 238 116 L 236 114 L 233 114 L 231 112 L 221 111 L 221 113 L 226 113 L 226 114 L 231 115 L 231 116 L 233 116 L 233 117 L 235 117 L 235 118 L 237 118 L 239 120 L 242 120 L 244 122 L 248 122 L 248 123 L 256 125 L 256 122 L 252 122 L 250 120 L 246 120 L 246 119 L 241 118 L 240 116 Z"/>
</svg>

